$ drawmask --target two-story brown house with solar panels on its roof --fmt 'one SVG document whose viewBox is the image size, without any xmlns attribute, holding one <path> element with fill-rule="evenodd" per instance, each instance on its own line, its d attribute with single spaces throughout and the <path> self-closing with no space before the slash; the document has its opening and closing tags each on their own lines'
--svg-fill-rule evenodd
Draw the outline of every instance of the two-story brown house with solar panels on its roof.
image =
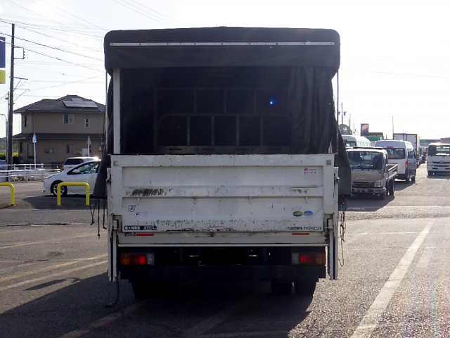
<svg viewBox="0 0 450 338">
<path fill-rule="evenodd" d="M 42 99 L 14 111 L 22 118 L 20 163 L 60 164 L 68 157 L 98 156 L 105 144 L 105 106 L 77 95 Z M 33 135 L 36 135 L 33 142 Z M 35 144 L 34 144 L 35 143 Z"/>
</svg>

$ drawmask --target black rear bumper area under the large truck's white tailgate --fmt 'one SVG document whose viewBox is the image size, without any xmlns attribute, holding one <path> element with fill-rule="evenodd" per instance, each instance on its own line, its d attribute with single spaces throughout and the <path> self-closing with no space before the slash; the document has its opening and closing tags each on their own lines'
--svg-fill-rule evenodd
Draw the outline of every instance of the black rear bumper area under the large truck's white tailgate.
<svg viewBox="0 0 450 338">
<path fill-rule="evenodd" d="M 141 248 L 155 253 L 155 265 L 120 264 L 120 277 L 131 282 L 176 280 L 289 280 L 316 282 L 326 277 L 324 247 Z M 135 248 L 121 248 L 123 256 Z M 299 253 L 298 262 L 293 256 Z M 302 255 L 300 255 L 302 253 Z M 300 260 L 311 258 L 316 263 Z M 309 258 L 307 258 L 309 257 Z"/>
</svg>

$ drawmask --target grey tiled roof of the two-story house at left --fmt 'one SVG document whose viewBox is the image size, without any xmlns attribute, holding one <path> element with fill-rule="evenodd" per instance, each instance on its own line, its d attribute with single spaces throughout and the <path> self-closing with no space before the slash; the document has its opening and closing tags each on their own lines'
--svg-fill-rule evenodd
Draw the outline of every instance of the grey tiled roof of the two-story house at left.
<svg viewBox="0 0 450 338">
<path fill-rule="evenodd" d="M 92 101 L 89 99 L 84 99 L 81 96 L 77 95 L 66 95 L 63 97 L 60 97 L 59 99 L 41 99 L 41 101 L 34 102 L 34 104 L 29 104 L 25 107 L 15 109 L 14 113 L 25 113 L 27 111 L 34 111 L 34 112 L 49 112 L 49 111 L 68 111 L 71 113 L 84 113 L 86 111 L 89 111 L 89 113 L 104 113 L 105 112 L 105 106 L 103 104 L 98 104 L 97 102 L 93 101 L 97 108 L 91 108 L 91 107 L 68 107 L 64 104 L 63 101 L 72 101 L 72 99 L 82 99 L 83 101 Z"/>
</svg>

